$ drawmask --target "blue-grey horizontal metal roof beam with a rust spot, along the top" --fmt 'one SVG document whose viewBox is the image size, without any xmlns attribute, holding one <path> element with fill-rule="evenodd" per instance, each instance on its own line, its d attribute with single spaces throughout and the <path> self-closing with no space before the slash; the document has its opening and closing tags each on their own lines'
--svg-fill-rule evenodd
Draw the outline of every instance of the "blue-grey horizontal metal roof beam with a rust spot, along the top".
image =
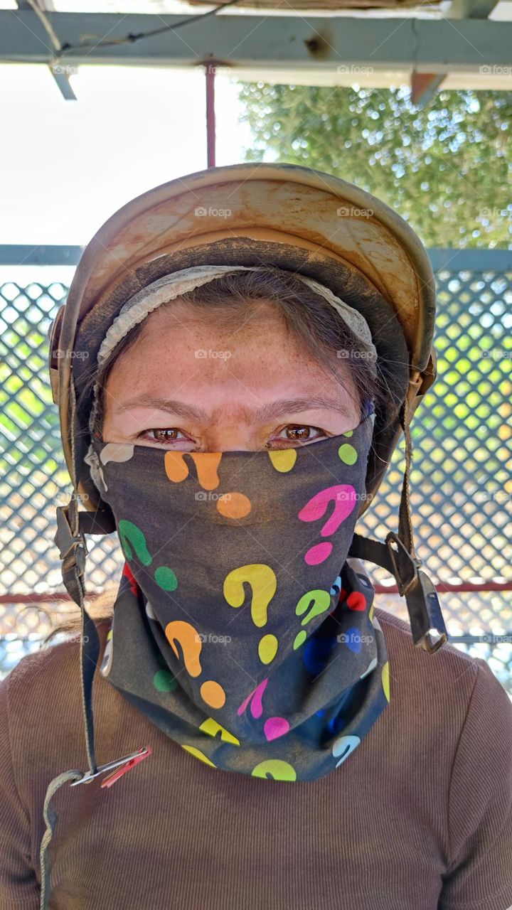
<svg viewBox="0 0 512 910">
<path fill-rule="evenodd" d="M 46 13 L 62 44 L 77 47 L 62 64 L 198 66 L 214 59 L 244 67 L 261 77 L 265 70 L 336 73 L 337 67 L 417 72 L 484 72 L 508 68 L 512 23 L 486 19 L 396 18 L 330 19 L 291 16 L 212 15 L 176 31 L 102 46 L 101 41 L 139 35 L 175 25 L 175 15 Z M 87 38 L 85 37 L 87 36 Z M 84 43 L 87 46 L 84 46 Z M 34 12 L 0 10 L 0 60 L 49 63 L 55 53 Z M 357 74 L 354 74 L 357 81 Z"/>
</svg>

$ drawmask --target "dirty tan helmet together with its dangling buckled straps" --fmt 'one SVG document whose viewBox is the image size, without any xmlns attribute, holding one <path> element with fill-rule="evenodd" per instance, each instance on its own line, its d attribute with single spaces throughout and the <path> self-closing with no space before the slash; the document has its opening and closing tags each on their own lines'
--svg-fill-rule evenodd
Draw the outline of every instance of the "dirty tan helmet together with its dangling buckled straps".
<svg viewBox="0 0 512 910">
<path fill-rule="evenodd" d="M 375 407 L 366 496 L 358 518 L 374 501 L 402 433 L 404 482 L 397 530 L 388 531 L 385 541 L 354 533 L 349 557 L 373 562 L 394 576 L 417 647 L 434 653 L 447 641 L 435 587 L 415 553 L 409 506 L 410 422 L 436 371 L 434 275 L 415 231 L 380 199 L 309 167 L 237 164 L 171 180 L 132 199 L 100 227 L 49 332 L 52 392 L 73 484 L 68 505 L 56 510 L 56 543 L 65 586 L 82 612 L 88 779 L 101 772 L 90 698 L 99 640 L 84 606 L 86 535 L 116 530 L 86 460 L 91 365 L 97 364 L 100 345 L 129 298 L 173 272 L 217 264 L 273 266 L 311 278 L 366 320 L 378 358 L 389 364 L 388 397 Z M 75 356 L 80 351 L 87 351 L 87 358 Z M 77 782 L 84 776 L 77 770 L 65 774 L 74 774 Z M 57 780 L 46 794 L 43 870 L 55 821 L 50 789 Z"/>
</svg>

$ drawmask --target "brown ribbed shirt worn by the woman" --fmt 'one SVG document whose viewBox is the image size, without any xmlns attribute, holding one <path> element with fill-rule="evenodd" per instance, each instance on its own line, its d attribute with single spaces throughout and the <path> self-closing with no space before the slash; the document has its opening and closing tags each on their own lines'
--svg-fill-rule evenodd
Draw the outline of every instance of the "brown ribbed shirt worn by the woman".
<svg viewBox="0 0 512 910">
<path fill-rule="evenodd" d="M 51 910 L 509 910 L 512 703 L 486 662 L 375 615 L 390 704 L 318 781 L 214 770 L 97 672 L 97 762 L 153 753 L 57 791 Z M 46 786 L 87 770 L 78 659 L 62 642 L 0 683 L 0 910 L 37 910 Z"/>
</svg>

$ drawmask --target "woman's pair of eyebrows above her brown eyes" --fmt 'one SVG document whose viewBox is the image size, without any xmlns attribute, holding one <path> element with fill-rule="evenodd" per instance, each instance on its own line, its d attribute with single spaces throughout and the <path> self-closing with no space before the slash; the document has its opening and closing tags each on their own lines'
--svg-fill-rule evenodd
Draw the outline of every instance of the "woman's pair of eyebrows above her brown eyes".
<svg viewBox="0 0 512 910">
<path fill-rule="evenodd" d="M 233 405 L 233 407 L 235 407 Z M 206 411 L 196 408 L 194 405 L 185 404 L 178 399 L 161 399 L 150 398 L 145 395 L 138 395 L 136 398 L 125 401 L 124 404 L 118 404 L 115 410 L 118 414 L 124 413 L 131 408 L 151 408 L 153 410 L 165 410 L 172 414 L 178 414 L 179 417 L 186 417 L 190 420 L 200 420 L 203 423 L 210 420 Z M 336 410 L 343 414 L 343 417 L 353 417 L 353 411 L 343 401 L 323 398 L 322 395 L 311 395 L 307 398 L 279 399 L 272 401 L 271 404 L 263 405 L 256 410 L 249 409 L 246 404 L 240 405 L 240 411 L 250 420 L 271 420 L 275 417 L 281 417 L 282 414 L 294 414 L 302 410 Z"/>
</svg>

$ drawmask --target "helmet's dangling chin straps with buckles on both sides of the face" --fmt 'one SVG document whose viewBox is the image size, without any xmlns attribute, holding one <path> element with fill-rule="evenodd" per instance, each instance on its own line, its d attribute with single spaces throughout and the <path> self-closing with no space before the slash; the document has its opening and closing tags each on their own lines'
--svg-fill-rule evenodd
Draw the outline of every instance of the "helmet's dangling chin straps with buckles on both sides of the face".
<svg viewBox="0 0 512 910">
<path fill-rule="evenodd" d="M 420 379 L 417 380 L 419 384 Z M 374 541 L 354 533 L 348 556 L 356 559 L 368 560 L 381 566 L 394 576 L 398 592 L 405 597 L 413 641 L 417 647 L 423 648 L 432 654 L 439 650 L 447 641 L 445 621 L 435 591 L 434 584 L 424 571 L 419 567 L 422 561 L 415 553 L 413 527 L 411 522 L 409 504 L 409 474 L 411 468 L 412 442 L 410 435 L 410 413 L 408 397 L 400 410 L 400 425 L 404 430 L 405 439 L 405 470 L 402 497 L 400 501 L 398 533 L 390 531 L 385 542 Z M 105 780 L 103 784 L 110 785 L 118 779 L 121 773 L 141 761 L 151 753 L 150 747 L 138 749 L 115 762 L 110 762 L 100 767 L 96 763 L 94 746 L 94 723 L 92 712 L 92 683 L 97 667 L 99 655 L 99 637 L 95 622 L 88 615 L 85 605 L 84 574 L 87 558 L 87 533 L 111 533 L 116 530 L 115 523 L 108 512 L 101 513 L 78 511 L 77 492 L 77 466 L 75 462 L 75 429 L 77 399 L 73 377 L 69 383 L 70 427 L 72 447 L 71 481 L 73 493 L 67 506 L 56 508 L 57 531 L 55 542 L 60 551 L 62 560 L 62 578 L 69 593 L 82 614 L 82 634 L 80 637 L 80 664 L 82 707 L 84 712 L 86 750 L 88 771 L 83 772 L 77 768 L 58 774 L 48 784 L 44 804 L 44 817 L 46 831 L 40 847 L 41 864 L 41 902 L 40 910 L 47 910 L 50 895 L 50 875 L 48 866 L 48 845 L 55 830 L 57 815 L 51 805 L 51 800 L 56 790 L 62 784 L 70 781 L 71 785 L 88 783 L 99 774 L 112 768 L 119 770 Z M 102 784 L 102 786 L 103 786 Z"/>
</svg>

